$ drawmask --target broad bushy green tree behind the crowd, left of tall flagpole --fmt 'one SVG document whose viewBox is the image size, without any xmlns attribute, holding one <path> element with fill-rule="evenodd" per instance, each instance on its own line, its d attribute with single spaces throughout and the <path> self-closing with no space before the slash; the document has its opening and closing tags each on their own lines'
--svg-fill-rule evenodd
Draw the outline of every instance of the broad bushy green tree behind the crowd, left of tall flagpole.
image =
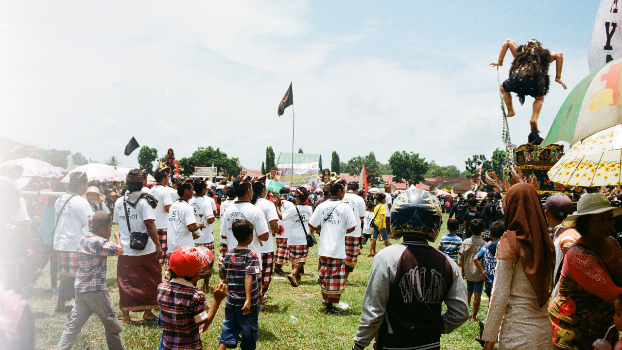
<svg viewBox="0 0 622 350">
<path fill-rule="evenodd" d="M 241 168 L 239 167 L 239 159 L 229 157 L 220 150 L 214 149 L 212 146 L 207 148 L 199 147 L 190 158 L 182 158 L 179 160 L 180 173 L 189 176 L 193 173 L 195 166 L 211 166 L 214 164 L 218 168 L 218 172 L 223 176 L 238 176 Z M 183 168 L 183 172 L 181 170 Z"/>
</svg>

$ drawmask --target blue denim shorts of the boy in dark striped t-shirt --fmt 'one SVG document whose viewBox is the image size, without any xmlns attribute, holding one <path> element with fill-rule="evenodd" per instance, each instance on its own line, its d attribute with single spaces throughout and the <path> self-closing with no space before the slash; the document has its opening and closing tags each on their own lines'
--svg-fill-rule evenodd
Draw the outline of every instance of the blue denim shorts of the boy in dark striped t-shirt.
<svg viewBox="0 0 622 350">
<path fill-rule="evenodd" d="M 259 309 L 251 306 L 251 313 L 242 314 L 242 308 L 225 305 L 223 331 L 218 344 L 225 344 L 229 349 L 238 347 L 242 350 L 255 350 L 259 336 Z"/>
</svg>

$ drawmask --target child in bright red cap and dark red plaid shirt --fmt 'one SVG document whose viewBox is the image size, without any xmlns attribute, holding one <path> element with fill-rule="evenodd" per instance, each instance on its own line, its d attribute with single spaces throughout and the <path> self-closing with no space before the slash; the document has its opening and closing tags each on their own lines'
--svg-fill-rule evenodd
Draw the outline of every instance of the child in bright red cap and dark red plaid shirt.
<svg viewBox="0 0 622 350">
<path fill-rule="evenodd" d="M 226 296 L 225 285 L 220 283 L 214 289 L 210 310 L 205 311 L 207 299 L 196 285 L 200 271 L 213 262 L 206 247 L 182 246 L 170 254 L 170 281 L 157 288 L 158 324 L 162 326 L 159 349 L 203 349 L 200 333 L 210 326 Z"/>
</svg>

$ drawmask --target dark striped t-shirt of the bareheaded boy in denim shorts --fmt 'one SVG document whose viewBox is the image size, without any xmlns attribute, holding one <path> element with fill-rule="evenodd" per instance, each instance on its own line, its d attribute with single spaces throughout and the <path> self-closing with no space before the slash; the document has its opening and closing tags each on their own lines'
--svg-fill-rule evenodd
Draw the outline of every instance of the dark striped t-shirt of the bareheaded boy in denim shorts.
<svg viewBox="0 0 622 350">
<path fill-rule="evenodd" d="M 227 305 L 241 308 L 246 301 L 246 289 L 244 278 L 246 275 L 253 276 L 253 288 L 251 289 L 251 306 L 256 306 L 259 301 L 259 277 L 261 276 L 261 264 L 257 253 L 246 247 L 235 247 L 225 255 L 225 261 L 220 267 L 220 272 L 226 276 L 228 283 Z"/>
</svg>

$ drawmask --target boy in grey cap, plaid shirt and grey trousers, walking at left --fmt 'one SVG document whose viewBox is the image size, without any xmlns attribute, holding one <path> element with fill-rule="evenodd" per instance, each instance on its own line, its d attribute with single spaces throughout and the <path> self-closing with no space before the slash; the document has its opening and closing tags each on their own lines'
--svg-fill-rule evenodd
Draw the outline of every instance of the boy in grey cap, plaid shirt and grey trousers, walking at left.
<svg viewBox="0 0 622 350">
<path fill-rule="evenodd" d="M 93 313 L 104 324 L 108 349 L 125 349 L 121 339 L 121 324 L 114 317 L 106 287 L 107 257 L 123 254 L 123 247 L 108 240 L 113 227 L 112 215 L 96 211 L 88 217 L 88 226 L 89 232 L 82 235 L 77 245 L 80 267 L 74 282 L 75 301 L 57 349 L 71 349 L 86 320 Z M 116 242 L 121 242 L 119 232 L 114 232 L 114 238 Z"/>
</svg>

